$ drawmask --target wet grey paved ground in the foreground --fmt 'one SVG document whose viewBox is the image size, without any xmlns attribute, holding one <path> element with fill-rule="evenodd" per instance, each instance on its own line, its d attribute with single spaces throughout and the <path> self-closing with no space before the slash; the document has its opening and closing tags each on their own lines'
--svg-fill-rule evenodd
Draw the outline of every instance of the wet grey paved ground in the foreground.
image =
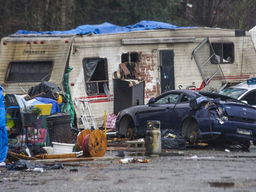
<svg viewBox="0 0 256 192">
<path fill-rule="evenodd" d="M 5 171 L 0 175 L 0 191 L 256 191 L 256 146 L 247 152 L 228 149 L 230 152 L 225 148 L 190 147 L 160 157 L 131 157 L 128 155 L 132 152 L 124 151 L 125 157 L 150 162 L 81 161 L 83 166 L 43 173 Z M 105 156 L 116 154 L 107 151 Z"/>
</svg>

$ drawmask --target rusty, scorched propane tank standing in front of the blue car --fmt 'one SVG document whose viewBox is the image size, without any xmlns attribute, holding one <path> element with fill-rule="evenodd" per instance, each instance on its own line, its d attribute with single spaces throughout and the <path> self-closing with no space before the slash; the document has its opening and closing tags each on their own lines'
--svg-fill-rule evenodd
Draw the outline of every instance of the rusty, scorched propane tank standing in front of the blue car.
<svg viewBox="0 0 256 192">
<path fill-rule="evenodd" d="M 148 155 L 161 154 L 160 121 L 147 122 L 145 148 Z"/>
</svg>

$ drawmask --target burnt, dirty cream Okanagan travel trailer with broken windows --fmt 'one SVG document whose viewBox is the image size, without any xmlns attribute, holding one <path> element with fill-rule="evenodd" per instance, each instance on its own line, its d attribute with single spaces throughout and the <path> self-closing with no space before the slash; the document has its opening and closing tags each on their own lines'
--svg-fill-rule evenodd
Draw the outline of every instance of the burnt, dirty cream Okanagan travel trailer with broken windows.
<svg viewBox="0 0 256 192">
<path fill-rule="evenodd" d="M 208 84 L 221 90 L 246 81 L 256 75 L 255 60 L 250 33 L 239 30 L 176 27 L 101 34 L 13 34 L 1 39 L 0 84 L 8 94 L 24 94 L 22 89 L 27 92 L 49 81 L 65 92 L 65 71 L 72 67 L 68 86 L 77 117 L 74 124 L 83 127 L 75 100 L 88 100 L 97 126 L 102 127 L 105 110 L 113 113 L 120 103 L 141 105 L 166 90 L 202 89 Z M 123 71 L 122 63 L 135 63 L 139 69 L 137 77 L 143 86 L 134 90 L 127 86 L 135 96 L 118 96 L 126 87 L 115 89 L 118 83 L 113 74 Z M 143 98 L 137 99 L 136 94 Z M 115 113 L 120 110 L 117 107 Z"/>
</svg>

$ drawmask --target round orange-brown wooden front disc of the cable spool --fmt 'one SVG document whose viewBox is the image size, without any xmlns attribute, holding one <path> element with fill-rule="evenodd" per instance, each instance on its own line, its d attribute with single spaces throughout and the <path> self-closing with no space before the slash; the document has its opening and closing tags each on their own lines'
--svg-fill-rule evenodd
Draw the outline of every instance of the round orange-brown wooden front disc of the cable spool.
<svg viewBox="0 0 256 192">
<path fill-rule="evenodd" d="M 103 157 L 107 150 L 107 137 L 100 129 L 91 132 L 87 143 L 91 157 Z"/>
</svg>

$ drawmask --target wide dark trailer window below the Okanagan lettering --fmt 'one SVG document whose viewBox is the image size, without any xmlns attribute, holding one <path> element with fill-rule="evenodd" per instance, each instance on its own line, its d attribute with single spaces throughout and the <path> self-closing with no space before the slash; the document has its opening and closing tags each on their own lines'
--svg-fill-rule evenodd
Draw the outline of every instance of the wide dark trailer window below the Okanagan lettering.
<svg viewBox="0 0 256 192">
<path fill-rule="evenodd" d="M 48 81 L 52 68 L 53 61 L 10 62 L 5 82 Z"/>
</svg>

